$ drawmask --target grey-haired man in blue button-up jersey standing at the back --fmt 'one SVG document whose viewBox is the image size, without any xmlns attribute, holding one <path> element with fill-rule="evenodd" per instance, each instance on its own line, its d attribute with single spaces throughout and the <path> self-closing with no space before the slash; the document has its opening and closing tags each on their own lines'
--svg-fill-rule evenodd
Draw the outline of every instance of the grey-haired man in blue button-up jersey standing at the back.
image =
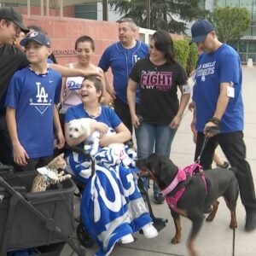
<svg viewBox="0 0 256 256">
<path fill-rule="evenodd" d="M 114 109 L 119 118 L 132 133 L 131 115 L 127 103 L 126 90 L 131 68 L 139 60 L 148 55 L 148 45 L 137 41 L 137 26 L 130 18 L 124 18 L 119 23 L 119 42 L 110 45 L 103 53 L 99 67 L 106 73 L 111 67 L 113 85 L 108 84 L 106 89 L 113 98 Z M 139 91 L 137 91 L 137 102 Z"/>
</svg>

